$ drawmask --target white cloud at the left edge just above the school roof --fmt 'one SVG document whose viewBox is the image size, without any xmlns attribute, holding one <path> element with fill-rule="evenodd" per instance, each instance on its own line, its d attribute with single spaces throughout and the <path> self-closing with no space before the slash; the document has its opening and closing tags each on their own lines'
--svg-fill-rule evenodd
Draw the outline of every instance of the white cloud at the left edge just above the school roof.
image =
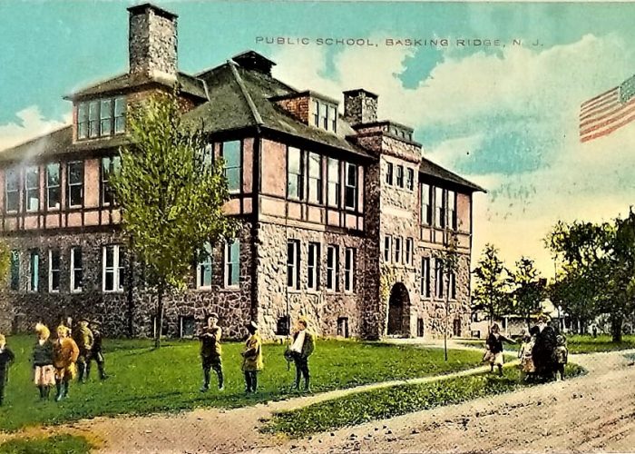
<svg viewBox="0 0 635 454">
<path fill-rule="evenodd" d="M 0 124 L 0 153 L 71 123 L 71 114 L 65 115 L 63 122 L 45 119 L 37 105 L 29 106 L 15 116 L 17 122 Z"/>
</svg>

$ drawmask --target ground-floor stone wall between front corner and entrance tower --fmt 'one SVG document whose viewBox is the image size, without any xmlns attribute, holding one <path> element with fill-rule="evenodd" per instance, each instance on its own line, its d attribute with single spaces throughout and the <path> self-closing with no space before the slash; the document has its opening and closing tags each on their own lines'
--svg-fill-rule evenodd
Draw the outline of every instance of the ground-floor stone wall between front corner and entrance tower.
<svg viewBox="0 0 635 454">
<path fill-rule="evenodd" d="M 287 287 L 287 242 L 300 243 L 300 289 Z M 320 244 L 319 287 L 307 289 L 308 243 Z M 310 228 L 286 227 L 272 223 L 258 225 L 258 321 L 263 336 L 275 335 L 278 319 L 288 313 L 291 323 L 308 317 L 313 329 L 323 336 L 337 335 L 337 320 L 347 319 L 350 336 L 361 336 L 362 291 L 365 270 L 365 243 L 361 237 Z M 339 291 L 327 291 L 327 245 L 339 246 Z M 356 248 L 355 291 L 344 291 L 345 248 Z"/>
</svg>

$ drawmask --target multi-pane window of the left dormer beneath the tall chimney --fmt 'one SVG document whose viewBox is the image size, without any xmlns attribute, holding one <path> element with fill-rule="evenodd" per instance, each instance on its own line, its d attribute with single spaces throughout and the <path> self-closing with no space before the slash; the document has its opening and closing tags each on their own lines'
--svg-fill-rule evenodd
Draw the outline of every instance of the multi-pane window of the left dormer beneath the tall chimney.
<svg viewBox="0 0 635 454">
<path fill-rule="evenodd" d="M 126 99 L 103 98 L 77 104 L 77 139 L 95 139 L 125 132 Z"/>
</svg>

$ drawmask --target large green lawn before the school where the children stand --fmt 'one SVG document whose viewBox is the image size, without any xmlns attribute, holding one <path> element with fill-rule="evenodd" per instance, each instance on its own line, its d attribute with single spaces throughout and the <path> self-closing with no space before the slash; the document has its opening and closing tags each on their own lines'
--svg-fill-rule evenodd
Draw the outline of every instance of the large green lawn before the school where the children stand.
<svg viewBox="0 0 635 454">
<path fill-rule="evenodd" d="M 223 346 L 226 390 L 199 392 L 199 344 L 196 341 L 170 341 L 161 350 L 152 350 L 151 341 L 104 341 L 106 370 L 110 380 L 97 380 L 93 367 L 91 381 L 73 382 L 67 400 L 41 402 L 31 379 L 29 357 L 34 340 L 11 337 L 8 340 L 17 356 L 9 373 L 5 407 L 0 408 L 0 430 L 14 430 L 39 423 L 56 424 L 73 419 L 122 413 L 150 413 L 210 406 L 232 408 L 288 397 L 294 368 L 287 370 L 284 346 L 263 348 L 265 370 L 259 376 L 259 392 L 245 395 L 240 371 L 241 343 Z M 480 351 L 421 349 L 376 342 L 318 341 L 309 366 L 314 391 L 350 388 L 376 381 L 409 379 L 480 365 Z"/>
</svg>

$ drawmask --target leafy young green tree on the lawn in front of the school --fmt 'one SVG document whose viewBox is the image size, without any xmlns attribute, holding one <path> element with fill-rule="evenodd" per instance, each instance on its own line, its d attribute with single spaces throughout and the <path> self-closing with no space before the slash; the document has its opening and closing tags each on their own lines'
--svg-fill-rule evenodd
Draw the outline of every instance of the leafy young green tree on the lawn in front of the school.
<svg viewBox="0 0 635 454">
<path fill-rule="evenodd" d="M 181 124 L 176 94 L 158 94 L 133 106 L 131 143 L 121 148 L 121 170 L 110 184 L 122 207 L 123 232 L 156 292 L 155 346 L 161 345 L 163 297 L 185 288 L 194 257 L 235 235 L 223 213 L 229 200 L 221 160 L 211 159 L 205 136 Z"/>
</svg>

